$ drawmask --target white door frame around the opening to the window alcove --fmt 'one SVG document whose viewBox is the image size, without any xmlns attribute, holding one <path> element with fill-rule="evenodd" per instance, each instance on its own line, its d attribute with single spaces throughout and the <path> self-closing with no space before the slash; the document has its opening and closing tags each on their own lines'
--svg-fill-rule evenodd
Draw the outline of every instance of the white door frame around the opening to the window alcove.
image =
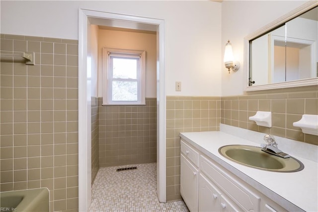
<svg viewBox="0 0 318 212">
<path fill-rule="evenodd" d="M 157 29 L 157 194 L 166 202 L 164 20 L 102 11 L 79 9 L 79 211 L 87 211 L 91 202 L 91 100 L 87 83 L 88 18 L 130 21 L 136 27 L 149 24 Z M 139 28 L 136 28 L 139 29 Z"/>
</svg>

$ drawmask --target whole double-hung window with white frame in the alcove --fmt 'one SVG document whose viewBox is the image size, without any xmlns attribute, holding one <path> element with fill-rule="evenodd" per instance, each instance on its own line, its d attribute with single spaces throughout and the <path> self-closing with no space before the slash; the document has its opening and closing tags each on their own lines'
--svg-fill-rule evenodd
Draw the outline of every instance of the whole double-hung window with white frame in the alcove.
<svg viewBox="0 0 318 212">
<path fill-rule="evenodd" d="M 103 105 L 146 105 L 146 52 L 103 48 Z"/>
</svg>

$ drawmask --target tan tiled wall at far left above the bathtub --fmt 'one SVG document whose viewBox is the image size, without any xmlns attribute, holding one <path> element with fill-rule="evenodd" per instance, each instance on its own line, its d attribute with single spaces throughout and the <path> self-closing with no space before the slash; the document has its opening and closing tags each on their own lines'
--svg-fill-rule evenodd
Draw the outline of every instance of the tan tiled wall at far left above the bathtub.
<svg viewBox="0 0 318 212">
<path fill-rule="evenodd" d="M 50 210 L 78 211 L 78 41 L 1 34 L 0 191 L 47 187 Z"/>
</svg>

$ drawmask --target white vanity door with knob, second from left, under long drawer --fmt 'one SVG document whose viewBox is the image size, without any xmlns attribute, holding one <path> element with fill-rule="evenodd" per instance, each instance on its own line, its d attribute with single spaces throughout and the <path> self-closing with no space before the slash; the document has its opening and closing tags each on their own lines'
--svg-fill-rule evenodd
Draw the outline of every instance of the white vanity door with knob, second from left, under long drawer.
<svg viewBox="0 0 318 212">
<path fill-rule="evenodd" d="M 199 212 L 219 212 L 221 192 L 202 174 L 199 176 Z"/>
</svg>

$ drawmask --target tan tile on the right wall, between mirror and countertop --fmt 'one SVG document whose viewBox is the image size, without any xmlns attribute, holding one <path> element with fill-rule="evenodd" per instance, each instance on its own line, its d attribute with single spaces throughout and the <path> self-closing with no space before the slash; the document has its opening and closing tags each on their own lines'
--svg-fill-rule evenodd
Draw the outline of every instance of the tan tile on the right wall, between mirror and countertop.
<svg viewBox="0 0 318 212">
<path fill-rule="evenodd" d="M 304 134 L 301 128 L 293 126 L 293 122 L 299 121 L 303 114 L 318 114 L 318 88 L 291 90 L 222 97 L 221 123 L 318 145 L 317 135 Z M 248 120 L 257 110 L 272 112 L 271 128 L 257 126 L 254 121 Z"/>
</svg>

